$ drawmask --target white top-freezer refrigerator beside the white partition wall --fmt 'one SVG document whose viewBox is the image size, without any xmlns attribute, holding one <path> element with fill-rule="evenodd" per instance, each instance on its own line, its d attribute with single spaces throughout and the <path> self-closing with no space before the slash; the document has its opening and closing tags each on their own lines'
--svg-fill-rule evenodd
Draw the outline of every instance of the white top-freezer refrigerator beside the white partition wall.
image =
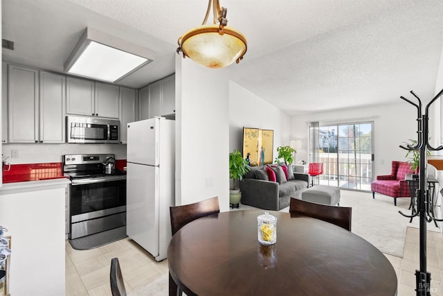
<svg viewBox="0 0 443 296">
<path fill-rule="evenodd" d="M 163 117 L 127 124 L 127 236 L 166 258 L 169 207 L 175 203 L 175 121 Z"/>
</svg>

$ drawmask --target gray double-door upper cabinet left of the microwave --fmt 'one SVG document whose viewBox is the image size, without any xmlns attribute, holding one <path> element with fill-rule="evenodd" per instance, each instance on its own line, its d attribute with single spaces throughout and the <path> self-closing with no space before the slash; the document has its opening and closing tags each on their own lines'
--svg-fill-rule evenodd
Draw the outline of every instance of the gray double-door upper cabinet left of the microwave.
<svg viewBox="0 0 443 296">
<path fill-rule="evenodd" d="M 66 78 L 8 65 L 8 142 L 64 143 Z"/>
</svg>

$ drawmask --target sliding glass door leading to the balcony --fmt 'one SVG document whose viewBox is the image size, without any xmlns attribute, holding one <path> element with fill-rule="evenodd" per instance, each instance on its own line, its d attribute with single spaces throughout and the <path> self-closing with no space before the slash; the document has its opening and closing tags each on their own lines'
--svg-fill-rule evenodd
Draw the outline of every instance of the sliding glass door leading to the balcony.
<svg viewBox="0 0 443 296">
<path fill-rule="evenodd" d="M 318 154 L 323 162 L 320 184 L 370 191 L 372 123 L 322 126 L 318 139 Z"/>
</svg>

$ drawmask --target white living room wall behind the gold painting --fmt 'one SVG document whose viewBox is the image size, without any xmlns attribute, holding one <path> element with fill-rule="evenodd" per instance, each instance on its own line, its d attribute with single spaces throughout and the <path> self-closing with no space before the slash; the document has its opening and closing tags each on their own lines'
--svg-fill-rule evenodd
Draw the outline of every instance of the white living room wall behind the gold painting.
<svg viewBox="0 0 443 296">
<path fill-rule="evenodd" d="M 229 81 L 229 151 L 242 152 L 243 127 L 273 130 L 273 158 L 277 147 L 291 141 L 291 116 L 259 96 Z"/>
</svg>

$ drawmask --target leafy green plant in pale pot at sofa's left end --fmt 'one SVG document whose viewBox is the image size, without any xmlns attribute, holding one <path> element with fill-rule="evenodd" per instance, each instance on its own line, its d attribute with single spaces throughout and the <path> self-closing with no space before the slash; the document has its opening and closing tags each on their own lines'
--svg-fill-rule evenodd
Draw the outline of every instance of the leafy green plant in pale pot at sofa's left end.
<svg viewBox="0 0 443 296">
<path fill-rule="evenodd" d="M 250 170 L 250 166 L 246 159 L 243 159 L 242 153 L 239 150 L 234 150 L 232 153 L 229 153 L 229 177 L 233 179 L 233 186 L 229 191 L 229 202 L 231 207 L 233 205 L 237 205 L 242 198 L 242 193 L 240 193 L 240 189 L 235 187 L 235 180 L 243 180 L 243 176 L 248 173 Z"/>
</svg>

